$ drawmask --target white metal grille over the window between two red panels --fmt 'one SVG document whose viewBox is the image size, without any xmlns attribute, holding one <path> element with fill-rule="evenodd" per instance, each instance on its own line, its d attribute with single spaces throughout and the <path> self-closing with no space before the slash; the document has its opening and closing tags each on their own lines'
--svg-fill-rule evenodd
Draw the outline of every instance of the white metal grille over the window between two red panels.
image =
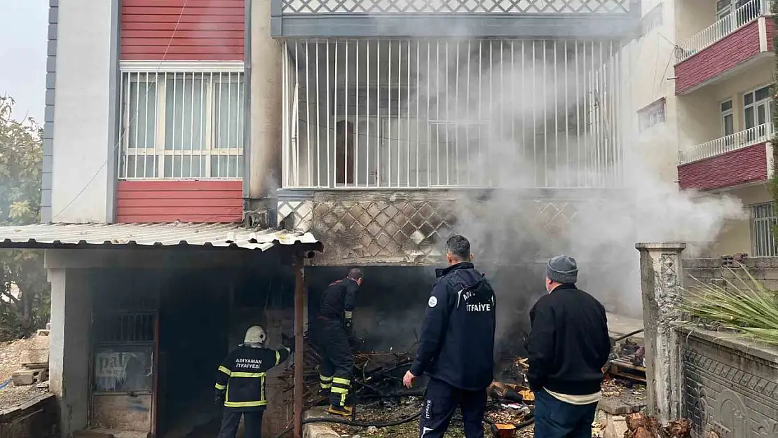
<svg viewBox="0 0 778 438">
<path fill-rule="evenodd" d="M 122 179 L 240 179 L 241 72 L 123 72 Z"/>
</svg>

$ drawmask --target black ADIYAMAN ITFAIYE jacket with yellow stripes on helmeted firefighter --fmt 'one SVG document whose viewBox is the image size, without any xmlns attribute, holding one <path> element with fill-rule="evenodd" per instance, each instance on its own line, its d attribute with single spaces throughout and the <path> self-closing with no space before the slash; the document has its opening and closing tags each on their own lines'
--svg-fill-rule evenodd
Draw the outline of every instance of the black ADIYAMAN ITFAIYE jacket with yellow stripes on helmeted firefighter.
<svg viewBox="0 0 778 438">
<path fill-rule="evenodd" d="M 286 347 L 273 350 L 245 345 L 230 352 L 216 375 L 216 390 L 226 393 L 224 407 L 243 412 L 265 409 L 265 374 L 289 353 Z"/>
</svg>

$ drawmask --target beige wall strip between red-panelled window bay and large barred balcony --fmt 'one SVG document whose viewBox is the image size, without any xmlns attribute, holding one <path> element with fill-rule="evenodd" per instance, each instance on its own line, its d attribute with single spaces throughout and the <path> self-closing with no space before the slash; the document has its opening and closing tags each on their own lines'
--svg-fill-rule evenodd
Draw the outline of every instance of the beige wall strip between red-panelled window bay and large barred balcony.
<svg viewBox="0 0 778 438">
<path fill-rule="evenodd" d="M 248 196 L 258 199 L 275 194 L 281 181 L 282 45 L 270 37 L 271 0 L 250 1 L 251 155 L 247 176 Z"/>
</svg>

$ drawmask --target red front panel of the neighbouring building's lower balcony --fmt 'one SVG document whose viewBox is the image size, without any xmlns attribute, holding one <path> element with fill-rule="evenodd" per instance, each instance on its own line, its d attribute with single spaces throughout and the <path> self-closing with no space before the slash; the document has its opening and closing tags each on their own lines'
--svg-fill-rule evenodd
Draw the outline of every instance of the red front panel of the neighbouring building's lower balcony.
<svg viewBox="0 0 778 438">
<path fill-rule="evenodd" d="M 713 190 L 767 180 L 766 143 L 678 166 L 682 189 Z"/>
</svg>

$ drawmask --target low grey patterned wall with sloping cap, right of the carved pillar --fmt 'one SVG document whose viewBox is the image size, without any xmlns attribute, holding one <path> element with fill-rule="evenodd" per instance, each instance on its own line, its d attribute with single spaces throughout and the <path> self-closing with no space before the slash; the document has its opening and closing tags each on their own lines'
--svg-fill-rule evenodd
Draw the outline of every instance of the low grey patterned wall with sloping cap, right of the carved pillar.
<svg viewBox="0 0 778 438">
<path fill-rule="evenodd" d="M 679 327 L 682 416 L 692 436 L 778 437 L 778 349 Z"/>
</svg>

